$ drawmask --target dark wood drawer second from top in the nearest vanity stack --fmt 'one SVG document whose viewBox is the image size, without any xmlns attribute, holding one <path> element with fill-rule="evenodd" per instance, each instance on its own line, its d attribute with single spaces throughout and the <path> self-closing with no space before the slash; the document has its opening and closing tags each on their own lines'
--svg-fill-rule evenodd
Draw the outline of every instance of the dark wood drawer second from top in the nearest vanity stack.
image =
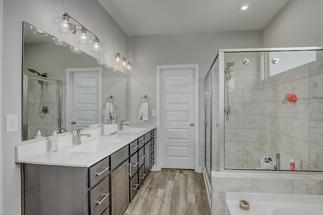
<svg viewBox="0 0 323 215">
<path fill-rule="evenodd" d="M 89 191 L 89 201 L 91 214 L 101 214 L 106 207 L 109 207 L 109 176 Z"/>
</svg>

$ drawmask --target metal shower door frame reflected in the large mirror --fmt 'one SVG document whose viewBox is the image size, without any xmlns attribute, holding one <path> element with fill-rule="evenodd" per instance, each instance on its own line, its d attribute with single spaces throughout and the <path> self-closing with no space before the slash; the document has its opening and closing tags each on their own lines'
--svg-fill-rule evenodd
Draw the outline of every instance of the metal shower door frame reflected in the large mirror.
<svg viewBox="0 0 323 215">
<path fill-rule="evenodd" d="M 38 76 L 30 76 L 27 74 L 23 74 L 23 87 L 22 87 L 22 140 L 28 140 L 28 80 L 33 79 L 37 81 L 49 82 L 52 84 L 59 85 L 59 110 L 58 110 L 58 127 L 61 127 L 61 95 L 62 95 L 62 81 L 51 80 L 48 78 L 38 77 Z M 26 139 L 24 139 L 26 138 Z"/>
</svg>

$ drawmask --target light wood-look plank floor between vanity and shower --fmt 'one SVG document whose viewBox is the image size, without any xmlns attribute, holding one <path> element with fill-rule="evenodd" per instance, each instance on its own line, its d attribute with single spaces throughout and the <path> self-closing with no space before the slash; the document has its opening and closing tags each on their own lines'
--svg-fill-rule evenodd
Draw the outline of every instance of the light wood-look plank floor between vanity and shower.
<svg viewBox="0 0 323 215">
<path fill-rule="evenodd" d="M 127 215 L 210 215 L 202 173 L 151 171 L 126 210 Z"/>
</svg>

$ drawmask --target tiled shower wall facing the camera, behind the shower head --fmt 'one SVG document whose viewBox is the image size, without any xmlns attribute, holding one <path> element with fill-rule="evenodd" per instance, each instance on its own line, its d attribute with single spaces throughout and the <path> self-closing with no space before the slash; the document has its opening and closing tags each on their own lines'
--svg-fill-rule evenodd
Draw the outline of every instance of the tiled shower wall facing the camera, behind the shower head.
<svg viewBox="0 0 323 215">
<path fill-rule="evenodd" d="M 250 63 L 243 64 L 244 57 Z M 263 90 L 259 59 L 256 53 L 246 56 L 226 53 L 225 59 L 225 62 L 235 61 L 228 89 L 231 114 L 225 120 L 225 168 L 248 168 L 248 151 L 262 150 Z"/>
</svg>

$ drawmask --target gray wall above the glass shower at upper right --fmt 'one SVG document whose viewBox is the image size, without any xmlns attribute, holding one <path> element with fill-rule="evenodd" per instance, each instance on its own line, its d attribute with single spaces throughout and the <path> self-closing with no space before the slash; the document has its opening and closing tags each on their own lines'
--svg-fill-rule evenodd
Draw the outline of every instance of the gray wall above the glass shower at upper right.
<svg viewBox="0 0 323 215">
<path fill-rule="evenodd" d="M 264 47 L 323 45 L 323 1 L 291 0 L 262 31 Z"/>
</svg>

